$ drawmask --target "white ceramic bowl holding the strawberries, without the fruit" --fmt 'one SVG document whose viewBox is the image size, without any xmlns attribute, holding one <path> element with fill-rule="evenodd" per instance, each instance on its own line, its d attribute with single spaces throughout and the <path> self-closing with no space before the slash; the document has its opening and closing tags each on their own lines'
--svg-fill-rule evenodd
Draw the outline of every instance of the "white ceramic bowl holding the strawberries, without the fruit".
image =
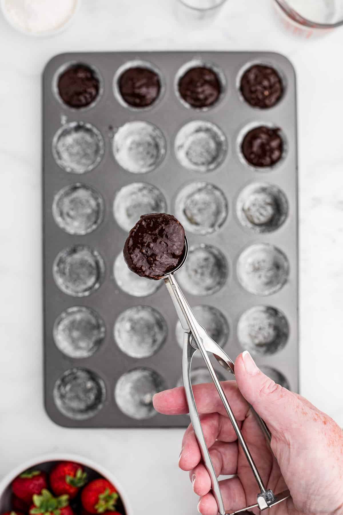
<svg viewBox="0 0 343 515">
<path fill-rule="evenodd" d="M 132 515 L 133 511 L 131 506 L 129 505 L 128 498 L 126 494 L 123 492 L 122 487 L 118 483 L 118 480 L 114 475 L 108 470 L 104 469 L 94 461 L 88 458 L 84 458 L 82 456 L 78 456 L 76 454 L 46 454 L 43 456 L 38 456 L 36 458 L 32 458 L 30 460 L 25 461 L 15 469 L 11 470 L 8 474 L 6 474 L 2 480 L 0 481 L 0 513 L 4 513 L 5 511 L 10 511 L 10 499 L 11 499 L 11 483 L 13 479 L 24 472 L 25 470 L 31 469 L 33 467 L 37 467 L 40 470 L 49 471 L 54 465 L 56 465 L 57 461 L 75 461 L 80 465 L 83 465 L 86 469 L 90 469 L 89 473 L 94 472 L 97 475 L 103 476 L 105 479 L 108 479 L 110 483 L 112 483 L 120 496 L 120 499 L 123 503 L 125 509 L 125 515 Z"/>
</svg>

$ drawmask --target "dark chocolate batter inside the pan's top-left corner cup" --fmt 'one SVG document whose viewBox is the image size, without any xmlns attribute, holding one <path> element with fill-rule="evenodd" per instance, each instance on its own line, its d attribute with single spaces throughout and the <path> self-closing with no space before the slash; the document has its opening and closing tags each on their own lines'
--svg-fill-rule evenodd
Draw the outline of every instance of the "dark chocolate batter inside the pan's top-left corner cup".
<svg viewBox="0 0 343 515">
<path fill-rule="evenodd" d="M 98 96 L 99 80 L 92 68 L 84 64 L 76 64 L 60 75 L 58 90 L 67 106 L 86 107 Z"/>
</svg>

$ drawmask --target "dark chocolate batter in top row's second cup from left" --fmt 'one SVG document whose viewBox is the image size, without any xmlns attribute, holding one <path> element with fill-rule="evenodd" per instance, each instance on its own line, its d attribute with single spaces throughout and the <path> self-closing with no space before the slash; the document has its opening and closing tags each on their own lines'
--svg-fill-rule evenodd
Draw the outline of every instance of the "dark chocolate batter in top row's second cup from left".
<svg viewBox="0 0 343 515">
<path fill-rule="evenodd" d="M 157 73 L 148 68 L 129 68 L 119 78 L 120 94 L 133 107 L 151 106 L 160 89 Z"/>
</svg>

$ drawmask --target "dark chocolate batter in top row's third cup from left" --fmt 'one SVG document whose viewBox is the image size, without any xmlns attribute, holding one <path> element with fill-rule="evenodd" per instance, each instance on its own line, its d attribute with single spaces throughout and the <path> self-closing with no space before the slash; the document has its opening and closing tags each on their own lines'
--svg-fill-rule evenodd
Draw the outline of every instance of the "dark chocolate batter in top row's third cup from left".
<svg viewBox="0 0 343 515">
<path fill-rule="evenodd" d="M 210 68 L 191 68 L 180 78 L 178 90 L 181 97 L 192 107 L 212 106 L 219 98 L 221 84 Z"/>
</svg>

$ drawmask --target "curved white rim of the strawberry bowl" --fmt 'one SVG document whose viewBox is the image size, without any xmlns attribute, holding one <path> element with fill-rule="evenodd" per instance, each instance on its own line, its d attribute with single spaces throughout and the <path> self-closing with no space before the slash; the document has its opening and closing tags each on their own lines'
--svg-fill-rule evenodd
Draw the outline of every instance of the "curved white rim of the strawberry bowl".
<svg viewBox="0 0 343 515">
<path fill-rule="evenodd" d="M 81 456 L 80 454 L 63 453 L 63 452 L 47 453 L 47 454 L 40 454 L 39 456 L 36 456 L 34 458 L 30 458 L 30 459 L 23 461 L 20 465 L 17 465 L 13 469 L 11 469 L 0 480 L 0 496 L 4 493 L 6 488 L 10 486 L 13 479 L 17 475 L 19 475 L 21 472 L 24 472 L 25 470 L 27 470 L 31 467 L 39 466 L 40 464 L 46 463 L 48 461 L 75 461 L 76 463 L 79 463 L 80 465 L 84 465 L 85 467 L 95 470 L 95 472 L 98 472 L 105 479 L 110 480 L 110 482 L 116 487 L 116 489 L 118 490 L 118 493 L 121 497 L 124 509 L 125 509 L 125 515 L 132 515 L 133 511 L 132 511 L 131 504 L 129 503 L 127 494 L 124 492 L 122 485 L 118 482 L 117 478 L 112 474 L 112 472 L 110 472 L 108 469 L 106 469 L 102 465 L 99 465 L 96 461 L 93 461 L 90 458 Z"/>
</svg>

